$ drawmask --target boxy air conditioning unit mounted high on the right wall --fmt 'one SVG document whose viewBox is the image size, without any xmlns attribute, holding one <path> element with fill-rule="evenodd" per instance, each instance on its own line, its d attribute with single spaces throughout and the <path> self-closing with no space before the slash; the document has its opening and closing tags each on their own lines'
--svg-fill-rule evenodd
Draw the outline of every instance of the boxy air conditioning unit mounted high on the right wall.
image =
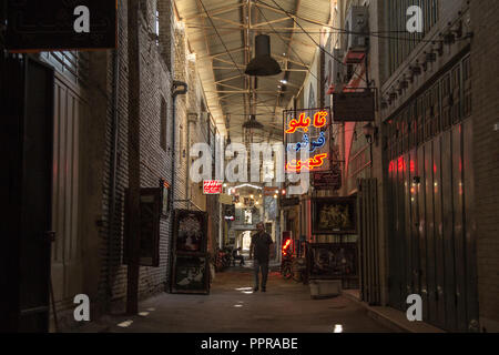
<svg viewBox="0 0 499 355">
<path fill-rule="evenodd" d="M 369 32 L 369 11 L 367 7 L 350 6 L 345 21 L 345 62 L 360 63 L 367 51 Z"/>
</svg>

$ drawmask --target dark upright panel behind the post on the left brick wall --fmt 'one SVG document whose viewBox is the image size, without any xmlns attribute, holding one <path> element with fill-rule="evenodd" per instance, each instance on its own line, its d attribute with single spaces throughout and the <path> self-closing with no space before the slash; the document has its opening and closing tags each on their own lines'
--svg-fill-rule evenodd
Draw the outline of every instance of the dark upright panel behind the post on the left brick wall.
<svg viewBox="0 0 499 355">
<path fill-rule="evenodd" d="M 140 192 L 140 250 L 141 266 L 160 266 L 160 215 L 162 189 L 142 187 Z M 125 193 L 125 231 L 123 243 L 123 264 L 130 263 L 130 196 Z"/>
</svg>

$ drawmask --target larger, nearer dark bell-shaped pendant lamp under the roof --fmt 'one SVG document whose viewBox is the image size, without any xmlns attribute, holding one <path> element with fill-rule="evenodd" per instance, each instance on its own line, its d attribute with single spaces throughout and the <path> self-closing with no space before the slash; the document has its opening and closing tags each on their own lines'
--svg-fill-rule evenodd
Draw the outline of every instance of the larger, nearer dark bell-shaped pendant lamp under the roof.
<svg viewBox="0 0 499 355">
<path fill-rule="evenodd" d="M 246 67 L 246 75 L 272 77 L 282 72 L 279 63 L 271 57 L 271 37 L 258 34 L 255 38 L 255 58 Z"/>
</svg>

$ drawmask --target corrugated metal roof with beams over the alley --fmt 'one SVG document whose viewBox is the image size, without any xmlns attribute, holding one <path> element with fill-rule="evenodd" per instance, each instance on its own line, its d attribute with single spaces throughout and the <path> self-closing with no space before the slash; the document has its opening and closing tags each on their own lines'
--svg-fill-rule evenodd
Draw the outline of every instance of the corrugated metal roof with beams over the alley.
<svg viewBox="0 0 499 355">
<path fill-rule="evenodd" d="M 226 114 L 231 115 L 233 141 L 242 140 L 242 124 L 252 110 L 251 80 L 244 75 L 244 70 L 254 55 L 254 36 L 271 36 L 272 55 L 279 62 L 283 73 L 258 78 L 255 112 L 268 131 L 271 128 L 281 130 L 282 122 L 276 118 L 281 118 L 281 109 L 303 84 L 306 65 L 310 65 L 314 58 L 314 41 L 319 42 L 320 23 L 329 20 L 329 0 L 176 0 L 175 6 L 185 23 L 190 47 L 197 54 L 197 70 L 208 108 L 218 124 L 225 123 Z M 246 39 L 248 8 L 252 28 Z M 304 18 L 295 20 L 309 36 L 281 8 Z M 279 80 L 285 78 L 286 68 L 292 71 L 286 74 L 288 84 L 282 91 L 278 85 L 282 85 Z"/>
</svg>

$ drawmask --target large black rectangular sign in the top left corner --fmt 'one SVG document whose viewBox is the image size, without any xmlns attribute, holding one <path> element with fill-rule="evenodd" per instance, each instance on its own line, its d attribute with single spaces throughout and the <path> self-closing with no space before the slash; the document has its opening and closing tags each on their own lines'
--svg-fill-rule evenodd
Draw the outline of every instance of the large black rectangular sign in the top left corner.
<svg viewBox="0 0 499 355">
<path fill-rule="evenodd" d="M 7 0 L 7 18 L 10 51 L 116 48 L 113 0 Z"/>
</svg>

